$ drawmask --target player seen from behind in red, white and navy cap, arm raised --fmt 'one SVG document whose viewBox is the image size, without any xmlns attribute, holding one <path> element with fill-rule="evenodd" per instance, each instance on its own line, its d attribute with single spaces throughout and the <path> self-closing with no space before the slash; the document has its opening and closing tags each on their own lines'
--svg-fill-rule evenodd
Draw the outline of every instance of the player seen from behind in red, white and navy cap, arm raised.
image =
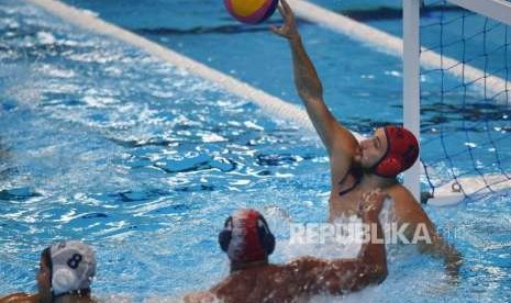
<svg viewBox="0 0 511 303">
<path fill-rule="evenodd" d="M 380 191 L 366 194 L 358 214 L 376 227 L 381 239 L 378 214 L 385 200 Z M 231 261 L 231 274 L 210 291 L 189 294 L 185 302 L 301 302 L 316 294 L 345 294 L 377 284 L 387 277 L 385 244 L 365 243 L 356 259 L 298 258 L 271 265 L 275 237 L 255 210 L 234 212 L 219 234 L 219 244 Z"/>
</svg>

